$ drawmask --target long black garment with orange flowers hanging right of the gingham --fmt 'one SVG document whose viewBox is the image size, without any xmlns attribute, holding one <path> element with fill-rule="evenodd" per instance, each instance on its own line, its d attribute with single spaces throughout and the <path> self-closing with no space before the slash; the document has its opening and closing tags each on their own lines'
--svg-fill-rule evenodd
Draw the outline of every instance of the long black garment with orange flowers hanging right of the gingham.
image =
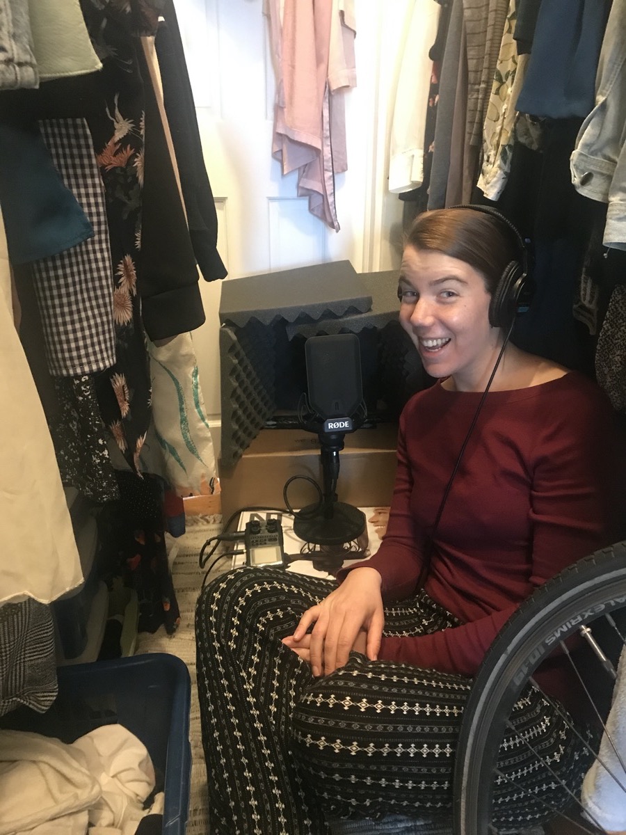
<svg viewBox="0 0 626 835">
<path fill-rule="evenodd" d="M 148 3 L 82 0 L 93 46 L 103 63 L 102 108 L 88 119 L 106 194 L 114 267 L 116 362 L 96 377 L 103 421 L 139 472 L 150 421 L 149 358 L 141 321 L 141 193 L 144 183 L 144 88 L 135 33 L 147 31 Z M 154 20 L 154 23 L 156 21 Z"/>
</svg>

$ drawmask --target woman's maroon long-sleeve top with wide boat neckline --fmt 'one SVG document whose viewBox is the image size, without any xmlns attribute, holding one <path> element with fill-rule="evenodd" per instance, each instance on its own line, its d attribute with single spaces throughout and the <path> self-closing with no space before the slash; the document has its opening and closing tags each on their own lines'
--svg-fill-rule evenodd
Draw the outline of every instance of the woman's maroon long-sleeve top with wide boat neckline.
<svg viewBox="0 0 626 835">
<path fill-rule="evenodd" d="M 366 563 L 380 572 L 386 602 L 416 590 L 480 397 L 437 383 L 402 412 L 389 525 Z M 613 540 L 617 451 L 608 398 L 578 372 L 489 392 L 435 532 L 425 584 L 462 625 L 383 637 L 378 657 L 472 676 L 517 605 Z"/>
</svg>

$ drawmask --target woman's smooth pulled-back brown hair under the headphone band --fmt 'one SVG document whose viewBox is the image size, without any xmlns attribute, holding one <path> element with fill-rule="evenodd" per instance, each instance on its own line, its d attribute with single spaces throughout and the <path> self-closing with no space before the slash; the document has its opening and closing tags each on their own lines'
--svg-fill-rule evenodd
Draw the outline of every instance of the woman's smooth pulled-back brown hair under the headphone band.
<svg viewBox="0 0 626 835">
<path fill-rule="evenodd" d="M 417 215 L 405 246 L 465 261 L 482 275 L 491 295 L 507 265 L 520 256 L 517 240 L 504 221 L 475 209 L 435 209 Z"/>
</svg>

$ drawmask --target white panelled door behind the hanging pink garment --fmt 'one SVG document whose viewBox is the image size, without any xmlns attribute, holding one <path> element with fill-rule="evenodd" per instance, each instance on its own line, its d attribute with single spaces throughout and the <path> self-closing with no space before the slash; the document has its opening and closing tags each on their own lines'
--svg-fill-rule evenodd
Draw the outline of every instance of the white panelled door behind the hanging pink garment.
<svg viewBox="0 0 626 835">
<path fill-rule="evenodd" d="M 271 157 L 274 71 L 262 0 L 176 0 L 226 281 L 347 259 L 357 272 L 399 263 L 401 204 L 386 193 L 397 57 L 413 0 L 356 0 L 357 87 L 346 93 L 349 170 L 336 177 L 341 231 L 295 197 Z M 200 281 L 207 315 L 194 331 L 216 452 L 220 428 L 220 282 Z"/>
</svg>

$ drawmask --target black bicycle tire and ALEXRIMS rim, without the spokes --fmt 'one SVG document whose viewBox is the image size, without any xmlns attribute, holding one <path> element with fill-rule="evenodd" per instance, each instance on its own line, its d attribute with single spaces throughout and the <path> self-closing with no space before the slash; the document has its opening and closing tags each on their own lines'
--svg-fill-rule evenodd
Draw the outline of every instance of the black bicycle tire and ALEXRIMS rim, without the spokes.
<svg viewBox="0 0 626 835">
<path fill-rule="evenodd" d="M 454 772 L 455 835 L 487 835 L 502 728 L 544 657 L 581 625 L 626 605 L 626 543 L 596 551 L 548 580 L 502 627 L 463 711 Z"/>
</svg>

